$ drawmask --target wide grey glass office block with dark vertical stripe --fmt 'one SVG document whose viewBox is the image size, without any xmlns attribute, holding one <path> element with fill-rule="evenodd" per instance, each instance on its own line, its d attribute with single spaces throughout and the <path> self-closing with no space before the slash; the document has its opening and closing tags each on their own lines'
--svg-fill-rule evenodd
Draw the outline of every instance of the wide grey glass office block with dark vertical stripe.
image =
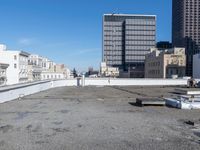
<svg viewBox="0 0 200 150">
<path fill-rule="evenodd" d="M 145 55 L 155 47 L 156 16 L 105 14 L 103 16 L 103 61 L 144 77 Z"/>
</svg>

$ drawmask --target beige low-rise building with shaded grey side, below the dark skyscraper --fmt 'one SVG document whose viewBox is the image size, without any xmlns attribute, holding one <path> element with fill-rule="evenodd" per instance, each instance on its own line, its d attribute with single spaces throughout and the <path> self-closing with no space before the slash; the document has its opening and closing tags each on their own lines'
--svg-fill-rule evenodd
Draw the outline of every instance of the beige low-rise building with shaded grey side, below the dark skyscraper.
<svg viewBox="0 0 200 150">
<path fill-rule="evenodd" d="M 146 55 L 145 78 L 184 77 L 186 68 L 185 48 L 159 51 L 152 48 Z"/>
</svg>

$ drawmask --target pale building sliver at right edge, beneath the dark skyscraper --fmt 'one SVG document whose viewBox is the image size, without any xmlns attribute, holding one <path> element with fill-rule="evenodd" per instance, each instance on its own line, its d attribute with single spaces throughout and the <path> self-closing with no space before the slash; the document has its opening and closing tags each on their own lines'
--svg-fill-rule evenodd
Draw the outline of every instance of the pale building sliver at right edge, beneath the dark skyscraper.
<svg viewBox="0 0 200 150">
<path fill-rule="evenodd" d="M 200 54 L 193 56 L 193 77 L 200 79 Z"/>
</svg>

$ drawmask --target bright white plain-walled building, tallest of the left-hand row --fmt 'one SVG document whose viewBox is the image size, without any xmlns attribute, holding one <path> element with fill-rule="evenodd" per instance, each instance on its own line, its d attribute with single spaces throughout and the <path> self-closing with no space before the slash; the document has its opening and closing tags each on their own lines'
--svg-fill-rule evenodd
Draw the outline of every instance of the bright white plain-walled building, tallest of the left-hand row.
<svg viewBox="0 0 200 150">
<path fill-rule="evenodd" d="M 28 57 L 27 52 L 7 50 L 5 45 L 0 45 L 0 62 L 9 64 L 8 85 L 28 82 Z"/>
</svg>

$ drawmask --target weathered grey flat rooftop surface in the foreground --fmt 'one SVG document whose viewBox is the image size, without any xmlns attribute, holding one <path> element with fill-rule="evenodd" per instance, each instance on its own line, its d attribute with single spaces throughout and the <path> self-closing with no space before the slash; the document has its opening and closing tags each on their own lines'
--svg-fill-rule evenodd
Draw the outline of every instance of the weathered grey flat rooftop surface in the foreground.
<svg viewBox="0 0 200 150">
<path fill-rule="evenodd" d="M 199 150 L 200 110 L 129 104 L 176 88 L 62 87 L 0 104 L 0 149 Z"/>
</svg>

